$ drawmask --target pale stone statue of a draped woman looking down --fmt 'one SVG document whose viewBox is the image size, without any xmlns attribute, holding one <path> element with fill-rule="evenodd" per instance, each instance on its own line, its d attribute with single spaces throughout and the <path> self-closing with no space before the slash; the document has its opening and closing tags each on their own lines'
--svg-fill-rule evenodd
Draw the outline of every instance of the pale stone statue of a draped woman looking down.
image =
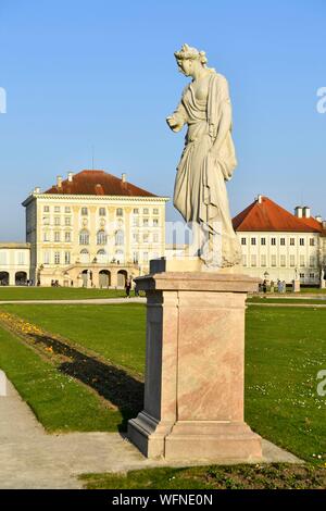
<svg viewBox="0 0 326 511">
<path fill-rule="evenodd" d="M 198 254 L 208 266 L 234 266 L 241 250 L 234 232 L 225 182 L 237 160 L 231 139 L 227 80 L 208 68 L 203 51 L 184 45 L 175 53 L 179 71 L 191 76 L 181 101 L 166 119 L 174 132 L 188 125 L 177 167 L 174 205 L 200 233 Z"/>
</svg>

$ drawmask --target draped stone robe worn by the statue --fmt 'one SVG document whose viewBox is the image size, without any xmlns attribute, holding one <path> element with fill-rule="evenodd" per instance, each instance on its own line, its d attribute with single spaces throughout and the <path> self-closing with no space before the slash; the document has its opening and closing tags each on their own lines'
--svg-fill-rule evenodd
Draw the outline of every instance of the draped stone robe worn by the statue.
<svg viewBox="0 0 326 511">
<path fill-rule="evenodd" d="M 187 223 L 200 226 L 208 234 L 209 250 L 206 244 L 206 249 L 200 253 L 206 264 L 233 266 L 240 263 L 241 250 L 233 228 L 225 186 L 237 164 L 231 126 L 217 158 L 209 154 L 218 133 L 224 102 L 230 103 L 227 82 L 214 71 L 205 100 L 195 97 L 191 84 L 184 90 L 174 117 L 179 126 L 188 124 L 188 132 L 177 167 L 174 205 Z"/>
</svg>

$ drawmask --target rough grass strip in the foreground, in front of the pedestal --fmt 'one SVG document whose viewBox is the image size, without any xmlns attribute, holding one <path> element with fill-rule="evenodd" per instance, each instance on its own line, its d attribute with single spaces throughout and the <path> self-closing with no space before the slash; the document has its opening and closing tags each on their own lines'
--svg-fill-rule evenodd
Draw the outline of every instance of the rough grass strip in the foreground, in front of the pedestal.
<svg viewBox="0 0 326 511">
<path fill-rule="evenodd" d="M 126 474 L 86 474 L 87 489 L 324 489 L 326 469 L 312 465 L 191 466 Z"/>
</svg>

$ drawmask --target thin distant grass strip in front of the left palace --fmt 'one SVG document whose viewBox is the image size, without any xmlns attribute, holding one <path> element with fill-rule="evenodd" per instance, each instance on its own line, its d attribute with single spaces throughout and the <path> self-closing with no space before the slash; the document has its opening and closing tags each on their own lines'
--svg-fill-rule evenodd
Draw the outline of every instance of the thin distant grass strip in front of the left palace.
<svg viewBox="0 0 326 511">
<path fill-rule="evenodd" d="M 0 301 L 8 300 L 86 300 L 124 297 L 124 289 L 86 289 L 72 287 L 7 287 L 0 286 Z M 134 296 L 134 292 L 131 292 Z"/>
</svg>

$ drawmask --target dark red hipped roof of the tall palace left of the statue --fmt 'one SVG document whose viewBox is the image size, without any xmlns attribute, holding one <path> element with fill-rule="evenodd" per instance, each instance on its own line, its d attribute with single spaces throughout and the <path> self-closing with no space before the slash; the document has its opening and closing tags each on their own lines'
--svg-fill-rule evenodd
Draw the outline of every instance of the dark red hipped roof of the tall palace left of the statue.
<svg viewBox="0 0 326 511">
<path fill-rule="evenodd" d="M 71 182 L 64 179 L 61 187 L 53 185 L 45 194 L 156 197 L 104 171 L 82 171 L 73 175 Z"/>
</svg>

